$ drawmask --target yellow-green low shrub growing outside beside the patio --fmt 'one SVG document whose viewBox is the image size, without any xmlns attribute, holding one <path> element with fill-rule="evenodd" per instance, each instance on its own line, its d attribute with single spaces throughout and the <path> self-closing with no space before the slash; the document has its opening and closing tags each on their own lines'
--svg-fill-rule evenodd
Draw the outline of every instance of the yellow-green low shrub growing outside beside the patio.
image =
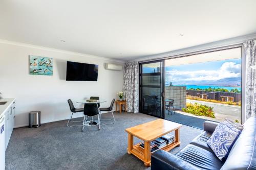
<svg viewBox="0 0 256 170">
<path fill-rule="evenodd" d="M 212 109 L 214 109 L 214 107 L 201 105 L 198 103 L 195 103 L 195 104 L 188 103 L 187 108 L 183 108 L 182 111 L 191 113 L 197 116 L 207 116 L 207 117 L 215 118 L 214 111 L 212 111 Z"/>
</svg>

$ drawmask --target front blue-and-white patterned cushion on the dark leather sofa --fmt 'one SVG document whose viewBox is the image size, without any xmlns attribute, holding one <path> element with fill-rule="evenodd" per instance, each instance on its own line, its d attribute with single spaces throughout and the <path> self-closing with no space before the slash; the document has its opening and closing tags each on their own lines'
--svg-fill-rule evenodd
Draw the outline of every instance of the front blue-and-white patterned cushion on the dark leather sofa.
<svg viewBox="0 0 256 170">
<path fill-rule="evenodd" d="M 221 122 L 212 133 L 207 144 L 214 151 L 215 155 L 222 160 L 228 156 L 233 142 L 240 134 L 240 130 L 230 126 L 226 122 Z"/>
</svg>

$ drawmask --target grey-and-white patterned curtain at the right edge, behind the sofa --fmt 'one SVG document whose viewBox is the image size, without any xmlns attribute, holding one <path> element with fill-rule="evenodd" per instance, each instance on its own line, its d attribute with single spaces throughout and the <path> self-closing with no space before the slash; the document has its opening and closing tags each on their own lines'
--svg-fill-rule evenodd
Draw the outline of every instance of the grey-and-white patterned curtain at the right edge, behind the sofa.
<svg viewBox="0 0 256 170">
<path fill-rule="evenodd" d="M 250 68 L 256 64 L 256 40 L 244 42 L 246 56 L 246 119 L 255 116 L 256 113 L 256 70 Z"/>
</svg>

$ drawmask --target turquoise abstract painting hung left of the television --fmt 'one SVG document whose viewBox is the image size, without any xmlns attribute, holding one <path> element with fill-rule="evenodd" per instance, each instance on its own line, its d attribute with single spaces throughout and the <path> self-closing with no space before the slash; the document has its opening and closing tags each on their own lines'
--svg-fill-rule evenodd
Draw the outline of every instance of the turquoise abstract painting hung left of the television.
<svg viewBox="0 0 256 170">
<path fill-rule="evenodd" d="M 52 76 L 53 59 L 49 57 L 29 56 L 30 75 L 46 75 Z"/>
</svg>

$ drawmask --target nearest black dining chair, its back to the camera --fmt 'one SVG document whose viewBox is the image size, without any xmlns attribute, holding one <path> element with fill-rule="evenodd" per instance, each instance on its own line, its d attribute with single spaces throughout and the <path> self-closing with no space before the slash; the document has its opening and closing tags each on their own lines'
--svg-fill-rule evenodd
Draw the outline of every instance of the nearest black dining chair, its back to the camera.
<svg viewBox="0 0 256 170">
<path fill-rule="evenodd" d="M 96 103 L 86 103 L 84 104 L 84 109 L 83 109 L 83 124 L 82 124 L 82 131 L 84 129 L 84 126 L 93 126 L 94 121 L 93 121 L 93 116 L 98 115 L 98 126 L 100 130 L 100 116 L 99 116 L 99 107 Z M 91 117 L 91 120 L 88 121 L 88 118 Z M 97 125 L 97 124 L 96 124 Z"/>
</svg>

